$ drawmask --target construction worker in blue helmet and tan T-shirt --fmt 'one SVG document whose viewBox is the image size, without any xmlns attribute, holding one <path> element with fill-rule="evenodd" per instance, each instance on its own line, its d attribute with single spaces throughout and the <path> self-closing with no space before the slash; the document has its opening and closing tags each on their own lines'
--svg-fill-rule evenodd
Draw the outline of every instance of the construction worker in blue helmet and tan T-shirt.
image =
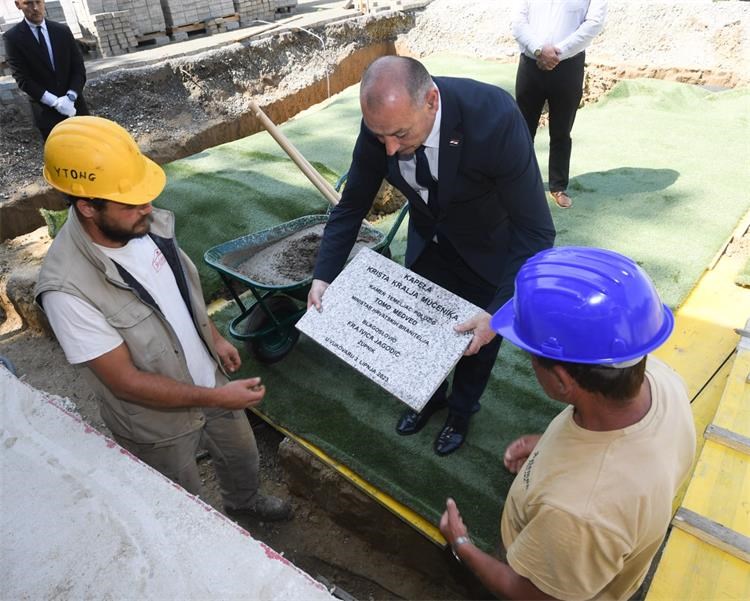
<svg viewBox="0 0 750 601">
<path fill-rule="evenodd" d="M 503 598 L 629 599 L 695 454 L 685 385 L 647 356 L 671 333 L 672 314 L 634 261 L 569 247 L 529 259 L 491 323 L 567 407 L 505 451 L 518 473 L 501 521 L 507 563 L 472 544 L 453 499 L 440 530 Z"/>
</svg>

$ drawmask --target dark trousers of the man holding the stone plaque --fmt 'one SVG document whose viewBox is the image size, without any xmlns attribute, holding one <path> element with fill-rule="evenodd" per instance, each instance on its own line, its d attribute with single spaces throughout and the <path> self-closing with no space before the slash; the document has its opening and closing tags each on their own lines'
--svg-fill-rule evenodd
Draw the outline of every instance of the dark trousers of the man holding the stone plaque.
<svg viewBox="0 0 750 601">
<path fill-rule="evenodd" d="M 450 290 L 454 294 L 485 308 L 495 296 L 497 288 L 477 275 L 446 242 L 431 242 L 410 267 L 412 271 Z M 476 355 L 461 357 L 453 372 L 453 386 L 448 395 L 448 381 L 444 381 L 430 400 L 438 405 L 448 403 L 450 412 L 469 417 L 480 409 L 482 396 L 497 359 L 502 338 L 496 336 Z"/>
</svg>

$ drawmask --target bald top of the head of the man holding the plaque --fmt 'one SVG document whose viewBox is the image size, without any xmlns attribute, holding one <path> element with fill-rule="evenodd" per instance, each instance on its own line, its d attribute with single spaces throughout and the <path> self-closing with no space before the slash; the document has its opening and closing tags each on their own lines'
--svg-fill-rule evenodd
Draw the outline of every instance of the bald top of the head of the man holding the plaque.
<svg viewBox="0 0 750 601">
<path fill-rule="evenodd" d="M 360 102 L 363 110 L 377 111 L 408 97 L 418 106 L 433 88 L 432 78 L 419 61 L 405 56 L 383 56 L 362 75 Z"/>
</svg>

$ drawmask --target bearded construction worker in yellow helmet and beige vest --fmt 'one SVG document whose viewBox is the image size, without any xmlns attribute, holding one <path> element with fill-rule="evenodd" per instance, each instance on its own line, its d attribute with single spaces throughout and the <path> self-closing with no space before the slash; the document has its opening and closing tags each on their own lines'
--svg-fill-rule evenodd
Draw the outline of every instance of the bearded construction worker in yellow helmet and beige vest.
<svg viewBox="0 0 750 601">
<path fill-rule="evenodd" d="M 198 494 L 196 451 L 213 458 L 229 515 L 281 520 L 288 502 L 258 489 L 258 450 L 244 409 L 260 378 L 229 382 L 237 349 L 211 322 L 198 272 L 174 239 L 174 215 L 151 206 L 166 176 L 122 127 L 59 123 L 44 178 L 70 202 L 35 296 L 72 364 L 100 399 L 115 440 Z"/>
</svg>

